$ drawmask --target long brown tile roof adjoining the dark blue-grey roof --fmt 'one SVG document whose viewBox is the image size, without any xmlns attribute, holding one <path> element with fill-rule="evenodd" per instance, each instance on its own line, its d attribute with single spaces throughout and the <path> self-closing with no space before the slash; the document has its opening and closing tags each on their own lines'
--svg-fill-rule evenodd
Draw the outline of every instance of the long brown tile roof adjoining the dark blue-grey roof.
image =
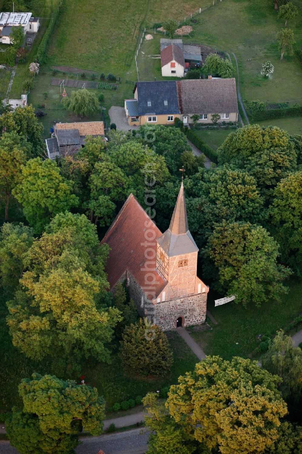
<svg viewBox="0 0 302 454">
<path fill-rule="evenodd" d="M 190 79 L 176 84 L 182 114 L 238 112 L 235 79 Z"/>
</svg>

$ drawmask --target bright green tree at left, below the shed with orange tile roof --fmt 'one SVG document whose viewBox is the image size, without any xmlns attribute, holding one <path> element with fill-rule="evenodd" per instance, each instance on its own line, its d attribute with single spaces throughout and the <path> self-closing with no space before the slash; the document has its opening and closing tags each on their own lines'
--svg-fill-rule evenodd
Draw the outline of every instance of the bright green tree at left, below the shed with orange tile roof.
<svg viewBox="0 0 302 454">
<path fill-rule="evenodd" d="M 12 194 L 23 206 L 24 216 L 36 233 L 41 233 L 50 218 L 77 206 L 72 185 L 61 177 L 57 163 L 30 159 L 22 168 L 21 182 Z"/>
</svg>

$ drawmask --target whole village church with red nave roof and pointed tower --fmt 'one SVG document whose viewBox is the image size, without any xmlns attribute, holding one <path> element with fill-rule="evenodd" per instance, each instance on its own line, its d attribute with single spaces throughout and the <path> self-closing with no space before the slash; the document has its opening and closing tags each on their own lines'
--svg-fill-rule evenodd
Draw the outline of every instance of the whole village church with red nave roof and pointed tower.
<svg viewBox="0 0 302 454">
<path fill-rule="evenodd" d="M 197 276 L 198 247 L 188 227 L 183 183 L 166 232 L 130 194 L 102 243 L 110 247 L 111 290 L 126 280 L 141 317 L 163 331 L 205 321 L 209 287 Z"/>
</svg>

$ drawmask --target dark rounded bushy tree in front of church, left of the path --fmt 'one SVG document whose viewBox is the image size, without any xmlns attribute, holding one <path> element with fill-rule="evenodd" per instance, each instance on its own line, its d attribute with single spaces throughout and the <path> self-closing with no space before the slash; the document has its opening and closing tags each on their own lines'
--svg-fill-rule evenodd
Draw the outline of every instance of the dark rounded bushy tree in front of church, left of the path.
<svg viewBox="0 0 302 454">
<path fill-rule="evenodd" d="M 125 328 L 119 356 L 124 369 L 141 377 L 164 376 L 173 363 L 166 335 L 142 319 Z"/>
</svg>

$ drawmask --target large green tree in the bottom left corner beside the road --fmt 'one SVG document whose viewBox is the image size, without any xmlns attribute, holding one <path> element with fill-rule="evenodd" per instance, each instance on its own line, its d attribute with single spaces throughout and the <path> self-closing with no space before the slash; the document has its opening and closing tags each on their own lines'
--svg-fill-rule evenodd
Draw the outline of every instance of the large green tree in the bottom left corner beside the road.
<svg viewBox="0 0 302 454">
<path fill-rule="evenodd" d="M 102 433 L 105 402 L 97 389 L 34 373 L 19 385 L 23 409 L 13 408 L 6 420 L 10 444 L 21 454 L 72 454 L 78 431 Z"/>
</svg>

